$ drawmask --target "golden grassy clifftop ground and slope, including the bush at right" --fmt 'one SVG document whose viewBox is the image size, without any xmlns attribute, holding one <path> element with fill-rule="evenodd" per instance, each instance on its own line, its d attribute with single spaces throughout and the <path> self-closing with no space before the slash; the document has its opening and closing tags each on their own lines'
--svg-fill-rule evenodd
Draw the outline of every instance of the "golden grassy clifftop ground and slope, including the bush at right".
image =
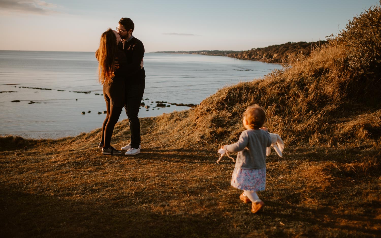
<svg viewBox="0 0 381 238">
<path fill-rule="evenodd" d="M 379 22 L 378 5 L 283 70 L 190 110 L 143 118 L 136 157 L 101 155 L 100 129 L 59 140 L 1 137 L 2 235 L 379 237 Z M 283 158 L 267 157 L 258 214 L 230 186 L 234 163 L 215 163 L 254 103 L 285 141 Z M 119 122 L 112 145 L 129 134 L 128 120 Z"/>
</svg>

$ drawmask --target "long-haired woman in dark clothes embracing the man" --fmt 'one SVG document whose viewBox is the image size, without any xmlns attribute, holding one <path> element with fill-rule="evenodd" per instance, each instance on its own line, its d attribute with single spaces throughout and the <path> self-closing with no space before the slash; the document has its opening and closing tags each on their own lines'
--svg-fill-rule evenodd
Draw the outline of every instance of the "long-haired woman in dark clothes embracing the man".
<svg viewBox="0 0 381 238">
<path fill-rule="evenodd" d="M 118 50 L 120 36 L 115 30 L 108 29 L 101 35 L 99 49 L 95 52 L 98 59 L 99 83 L 103 85 L 103 95 L 106 101 L 106 119 L 102 125 L 102 139 L 98 148 L 102 148 L 102 154 L 119 155 L 120 150 L 110 145 L 114 126 L 118 122 L 120 113 L 124 106 L 125 98 L 125 70 L 126 55 Z M 118 61 L 118 66 L 114 65 Z"/>
</svg>

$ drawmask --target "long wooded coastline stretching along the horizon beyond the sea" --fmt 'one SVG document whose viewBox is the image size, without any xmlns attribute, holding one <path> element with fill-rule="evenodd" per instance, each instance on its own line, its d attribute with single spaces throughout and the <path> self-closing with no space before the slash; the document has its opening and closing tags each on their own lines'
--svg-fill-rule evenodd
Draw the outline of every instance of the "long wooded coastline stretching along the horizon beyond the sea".
<svg viewBox="0 0 381 238">
<path fill-rule="evenodd" d="M 246 59 L 253 61 L 262 61 L 267 63 L 287 63 L 293 55 L 302 53 L 308 56 L 311 51 L 324 45 L 326 42 L 320 40 L 317 42 L 287 42 L 281 45 L 270 45 L 264 48 L 252 48 L 247 51 L 232 50 L 199 50 L 199 51 L 156 51 L 152 53 L 166 54 L 203 54 L 212 56 L 226 56 L 235 59 Z"/>
</svg>

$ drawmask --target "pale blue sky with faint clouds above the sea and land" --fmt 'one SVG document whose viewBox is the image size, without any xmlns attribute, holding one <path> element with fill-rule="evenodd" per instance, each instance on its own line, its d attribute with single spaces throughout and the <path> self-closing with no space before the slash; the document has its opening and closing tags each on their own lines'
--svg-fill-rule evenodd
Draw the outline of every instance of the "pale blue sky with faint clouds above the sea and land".
<svg viewBox="0 0 381 238">
<path fill-rule="evenodd" d="M 325 40 L 379 0 L 0 0 L 0 50 L 95 51 L 121 17 L 146 52 Z"/>
</svg>

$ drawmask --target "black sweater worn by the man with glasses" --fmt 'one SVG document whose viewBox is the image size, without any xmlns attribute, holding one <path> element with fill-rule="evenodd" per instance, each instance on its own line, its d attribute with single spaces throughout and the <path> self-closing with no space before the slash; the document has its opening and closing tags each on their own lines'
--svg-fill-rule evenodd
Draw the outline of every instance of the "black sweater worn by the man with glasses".
<svg viewBox="0 0 381 238">
<path fill-rule="evenodd" d="M 120 41 L 118 48 L 124 51 L 127 58 L 126 87 L 128 87 L 128 85 L 146 84 L 146 72 L 144 71 L 144 67 L 140 67 L 144 57 L 143 43 L 133 37 L 126 43 Z"/>
</svg>

